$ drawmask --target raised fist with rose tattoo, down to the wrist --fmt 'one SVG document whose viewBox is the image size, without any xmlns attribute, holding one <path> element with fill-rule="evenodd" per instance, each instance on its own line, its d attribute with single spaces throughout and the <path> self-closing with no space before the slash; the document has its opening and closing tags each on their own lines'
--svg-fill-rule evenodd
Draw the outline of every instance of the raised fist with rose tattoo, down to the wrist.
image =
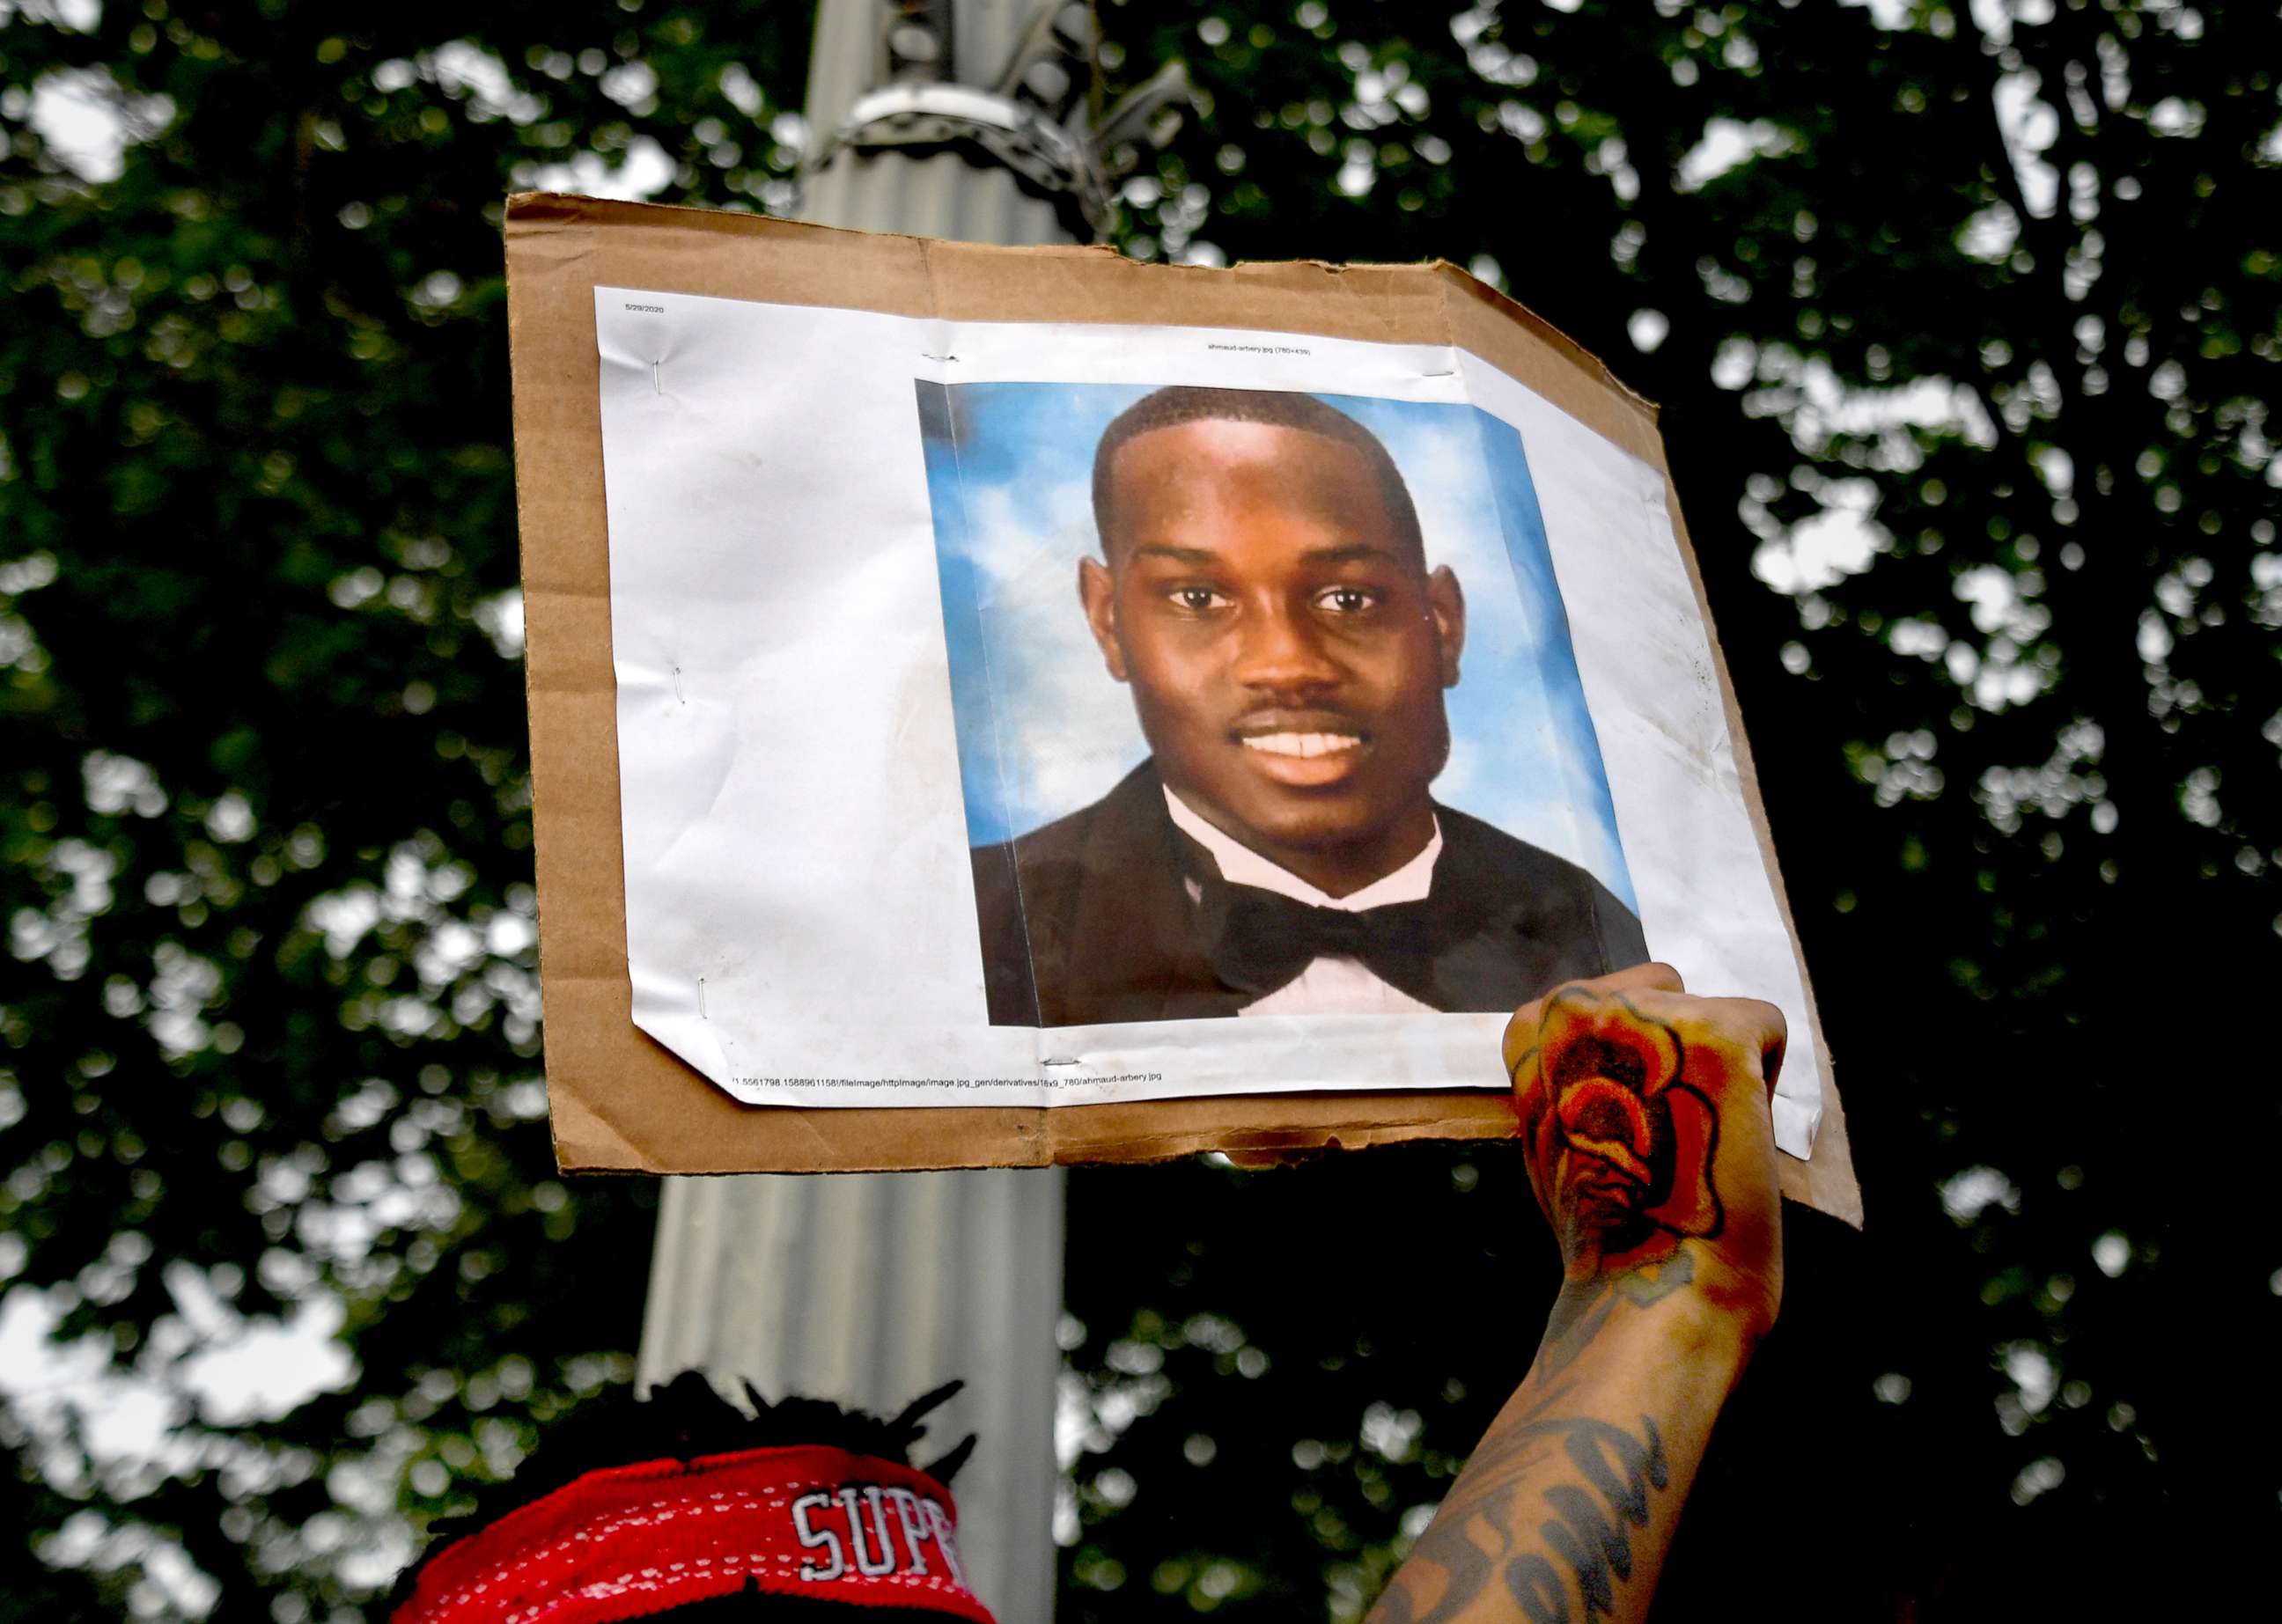
<svg viewBox="0 0 2282 1624">
<path fill-rule="evenodd" d="M 1693 1282 L 1757 1337 L 1782 1300 L 1769 1090 L 1773 1004 L 1686 997 L 1668 965 L 1556 988 L 1506 1026 L 1529 1182 L 1554 1227 L 1563 1307 Z M 1554 1339 L 1565 1330 L 1554 1312 Z"/>
</svg>

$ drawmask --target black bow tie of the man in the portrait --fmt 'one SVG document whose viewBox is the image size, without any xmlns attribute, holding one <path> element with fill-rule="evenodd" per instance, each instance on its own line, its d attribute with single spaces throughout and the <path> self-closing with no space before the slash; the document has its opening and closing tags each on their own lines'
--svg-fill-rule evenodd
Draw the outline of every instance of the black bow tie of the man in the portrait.
<svg viewBox="0 0 2282 1624">
<path fill-rule="evenodd" d="M 1319 958 L 1356 958 L 1381 981 L 1417 997 L 1433 985 L 1442 928 L 1426 901 L 1387 908 L 1314 908 L 1257 885 L 1203 880 L 1198 924 L 1221 981 L 1267 997 Z"/>
</svg>

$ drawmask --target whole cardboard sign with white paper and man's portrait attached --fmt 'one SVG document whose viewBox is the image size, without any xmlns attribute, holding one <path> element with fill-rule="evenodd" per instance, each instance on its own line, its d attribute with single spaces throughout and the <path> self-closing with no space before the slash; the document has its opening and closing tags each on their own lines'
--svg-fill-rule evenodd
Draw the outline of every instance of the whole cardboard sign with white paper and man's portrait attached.
<svg viewBox="0 0 2282 1624">
<path fill-rule="evenodd" d="M 1513 1131 L 1643 958 L 1846 1129 L 1654 408 L 1447 265 L 507 217 L 564 1168 Z"/>
</svg>

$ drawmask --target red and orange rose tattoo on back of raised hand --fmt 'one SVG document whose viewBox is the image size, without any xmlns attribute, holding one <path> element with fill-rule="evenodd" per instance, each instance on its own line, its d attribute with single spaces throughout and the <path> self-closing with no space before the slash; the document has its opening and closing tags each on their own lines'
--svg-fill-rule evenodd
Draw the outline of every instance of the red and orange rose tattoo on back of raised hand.
<svg viewBox="0 0 2282 1624">
<path fill-rule="evenodd" d="M 1513 1065 L 1538 1204 L 1570 1280 L 1654 1264 L 1712 1239 L 1718 1111 L 1682 1081 L 1680 1033 L 1623 992 L 1563 988 Z"/>
</svg>

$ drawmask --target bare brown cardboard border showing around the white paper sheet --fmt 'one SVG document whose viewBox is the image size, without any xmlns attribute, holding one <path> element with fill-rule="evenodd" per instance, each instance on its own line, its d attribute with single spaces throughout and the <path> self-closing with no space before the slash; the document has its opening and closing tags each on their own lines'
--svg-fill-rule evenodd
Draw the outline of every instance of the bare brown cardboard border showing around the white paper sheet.
<svg viewBox="0 0 2282 1624">
<path fill-rule="evenodd" d="M 746 1106 L 644 1036 L 625 965 L 609 545 L 593 287 L 842 306 L 984 322 L 1273 328 L 1458 344 L 1664 468 L 1657 411 L 1572 340 L 1451 265 L 1139 265 L 1107 249 L 988 249 L 705 210 L 525 194 L 507 208 L 516 481 L 539 839 L 548 1097 L 564 1170 L 856 1172 L 1164 1161 L 1221 1150 L 1273 1161 L 1326 1147 L 1513 1134 L 1504 1093 L 1324 1093 L 1057 1109 Z M 1673 502 L 1675 529 L 1680 525 Z M 1689 577 L 1702 577 L 1680 531 Z M 1709 623 L 1709 609 L 1705 611 Z M 1757 778 L 1714 641 L 1737 766 L 1778 901 Z M 1782 901 L 1789 924 L 1789 903 Z M 1796 947 L 1796 926 L 1791 928 Z M 1812 1013 L 1794 1045 L 1823 1051 Z M 1497 1058 L 1483 1054 L 1483 1070 Z M 1826 1067 L 1828 1077 L 1828 1067 Z M 1846 1115 L 1823 1088 L 1814 1159 L 1782 1191 L 1846 1223 L 1862 1197 Z"/>
</svg>

